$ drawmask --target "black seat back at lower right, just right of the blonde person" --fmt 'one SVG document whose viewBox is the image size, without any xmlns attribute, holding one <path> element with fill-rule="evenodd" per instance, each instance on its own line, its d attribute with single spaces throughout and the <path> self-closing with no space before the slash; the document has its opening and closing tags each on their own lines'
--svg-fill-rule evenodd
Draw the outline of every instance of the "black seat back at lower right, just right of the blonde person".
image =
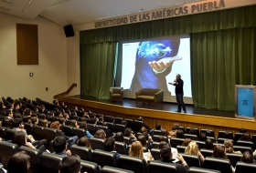
<svg viewBox="0 0 256 173">
<path fill-rule="evenodd" d="M 204 161 L 204 168 L 217 169 L 220 172 L 232 173 L 228 159 L 207 157 Z"/>
</svg>

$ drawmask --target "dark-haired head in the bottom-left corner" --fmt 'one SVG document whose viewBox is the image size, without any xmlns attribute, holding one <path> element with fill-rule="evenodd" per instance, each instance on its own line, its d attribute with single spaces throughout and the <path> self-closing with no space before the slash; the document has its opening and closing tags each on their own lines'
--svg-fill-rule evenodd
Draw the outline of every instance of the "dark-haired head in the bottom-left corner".
<svg viewBox="0 0 256 173">
<path fill-rule="evenodd" d="M 8 173 L 28 173 L 30 168 L 29 159 L 30 157 L 25 151 L 17 152 L 8 161 Z"/>
</svg>

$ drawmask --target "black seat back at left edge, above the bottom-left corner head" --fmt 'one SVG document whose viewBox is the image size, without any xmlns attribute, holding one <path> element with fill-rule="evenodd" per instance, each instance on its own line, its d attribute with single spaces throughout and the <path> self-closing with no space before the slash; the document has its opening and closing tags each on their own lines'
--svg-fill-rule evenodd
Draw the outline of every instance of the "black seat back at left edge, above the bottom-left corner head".
<svg viewBox="0 0 256 173">
<path fill-rule="evenodd" d="M 8 160 L 16 153 L 18 146 L 10 142 L 0 142 L 0 158 L 5 168 Z"/>
</svg>

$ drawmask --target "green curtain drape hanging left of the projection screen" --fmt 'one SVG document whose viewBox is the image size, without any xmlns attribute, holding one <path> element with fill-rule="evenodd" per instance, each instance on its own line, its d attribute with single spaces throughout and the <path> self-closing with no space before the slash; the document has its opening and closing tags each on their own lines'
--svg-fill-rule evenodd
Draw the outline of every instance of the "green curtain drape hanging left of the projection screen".
<svg viewBox="0 0 256 173">
<path fill-rule="evenodd" d="M 101 99 L 109 98 L 116 66 L 117 44 L 102 42 L 80 45 L 81 95 Z"/>
</svg>

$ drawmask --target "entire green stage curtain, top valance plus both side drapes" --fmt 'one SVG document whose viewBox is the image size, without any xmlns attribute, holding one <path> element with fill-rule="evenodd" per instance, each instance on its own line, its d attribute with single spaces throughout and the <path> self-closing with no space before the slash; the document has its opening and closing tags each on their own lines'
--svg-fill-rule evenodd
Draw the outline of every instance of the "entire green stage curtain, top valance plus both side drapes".
<svg viewBox="0 0 256 173">
<path fill-rule="evenodd" d="M 256 85 L 255 16 L 251 5 L 81 31 L 81 95 L 109 97 L 120 40 L 190 34 L 195 107 L 234 110 L 234 85 Z"/>
</svg>

